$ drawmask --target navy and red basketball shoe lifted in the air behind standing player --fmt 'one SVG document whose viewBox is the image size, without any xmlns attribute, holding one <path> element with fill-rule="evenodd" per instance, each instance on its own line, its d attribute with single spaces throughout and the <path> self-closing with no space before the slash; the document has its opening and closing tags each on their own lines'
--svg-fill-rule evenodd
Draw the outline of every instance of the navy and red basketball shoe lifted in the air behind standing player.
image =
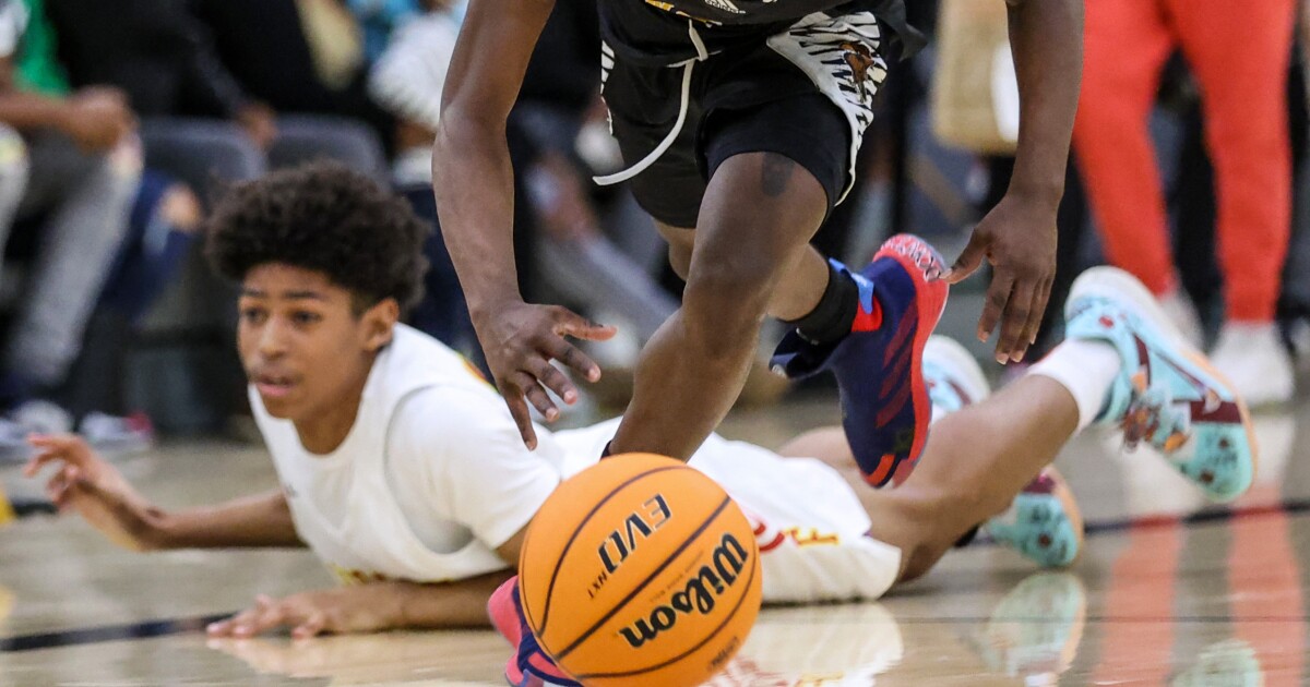
<svg viewBox="0 0 1310 687">
<path fill-rule="evenodd" d="M 858 273 L 832 264 L 859 288 L 850 334 L 814 344 L 793 330 L 774 351 L 773 369 L 793 379 L 832 370 L 841 424 L 865 480 L 900 484 L 924 450 L 933 416 L 922 356 L 946 306 L 946 262 L 924 239 L 900 234 Z"/>
</svg>

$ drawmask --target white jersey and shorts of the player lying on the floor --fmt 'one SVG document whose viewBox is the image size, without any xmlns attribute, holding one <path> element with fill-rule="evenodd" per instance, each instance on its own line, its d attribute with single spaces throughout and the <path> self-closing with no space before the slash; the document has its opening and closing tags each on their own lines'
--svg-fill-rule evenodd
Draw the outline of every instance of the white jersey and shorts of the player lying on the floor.
<svg viewBox="0 0 1310 687">
<path fill-rule="evenodd" d="M 508 565 L 494 547 L 525 526 L 561 475 L 596 463 L 618 420 L 528 451 L 504 402 L 435 339 L 397 326 L 335 451 L 312 455 L 250 393 L 296 531 L 347 582 L 460 580 Z M 710 436 L 692 457 L 756 526 L 766 602 L 874 599 L 900 550 L 867 535 L 855 493 L 816 459 Z"/>
</svg>

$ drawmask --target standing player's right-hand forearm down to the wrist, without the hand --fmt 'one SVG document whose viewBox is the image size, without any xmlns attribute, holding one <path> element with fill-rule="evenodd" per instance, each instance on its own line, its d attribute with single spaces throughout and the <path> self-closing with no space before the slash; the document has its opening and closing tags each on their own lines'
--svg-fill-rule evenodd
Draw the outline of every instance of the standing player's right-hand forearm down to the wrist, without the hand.
<svg viewBox="0 0 1310 687">
<path fill-rule="evenodd" d="M 1009 0 L 1019 81 L 1019 144 L 1010 192 L 1058 204 L 1082 80 L 1082 0 Z"/>
</svg>

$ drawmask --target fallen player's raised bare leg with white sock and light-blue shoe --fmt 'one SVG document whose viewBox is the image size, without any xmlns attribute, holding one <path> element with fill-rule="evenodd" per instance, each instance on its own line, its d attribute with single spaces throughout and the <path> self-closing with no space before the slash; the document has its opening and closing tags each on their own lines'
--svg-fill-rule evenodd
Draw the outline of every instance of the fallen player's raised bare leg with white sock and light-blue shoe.
<svg viewBox="0 0 1310 687">
<path fill-rule="evenodd" d="M 1117 428 L 1129 446 L 1150 444 L 1216 501 L 1250 488 L 1258 453 L 1242 399 L 1141 283 L 1112 267 L 1089 270 L 1073 284 L 1065 321 L 1065 343 L 1031 374 L 933 425 L 901 488 L 858 492 L 871 535 L 904 552 L 901 581 L 1001 513 L 1070 436 L 1094 423 Z M 861 482 L 841 432 L 819 431 L 783 450 L 829 461 Z"/>
</svg>

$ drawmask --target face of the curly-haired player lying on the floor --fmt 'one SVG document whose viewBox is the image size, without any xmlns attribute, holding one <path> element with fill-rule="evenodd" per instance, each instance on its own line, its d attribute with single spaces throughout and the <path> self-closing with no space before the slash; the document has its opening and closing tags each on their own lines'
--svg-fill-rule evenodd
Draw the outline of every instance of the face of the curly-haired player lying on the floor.
<svg viewBox="0 0 1310 687">
<path fill-rule="evenodd" d="M 312 270 L 250 270 L 237 301 L 237 348 L 246 378 L 274 417 L 354 423 L 377 349 L 390 340 L 394 301 L 363 314 L 348 291 Z"/>
</svg>

